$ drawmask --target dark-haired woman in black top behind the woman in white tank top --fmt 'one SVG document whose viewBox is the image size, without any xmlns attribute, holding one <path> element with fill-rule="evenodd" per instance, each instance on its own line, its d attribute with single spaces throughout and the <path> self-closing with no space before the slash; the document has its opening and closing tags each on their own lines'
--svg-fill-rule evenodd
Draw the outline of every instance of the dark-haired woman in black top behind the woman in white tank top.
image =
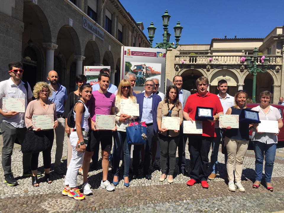
<svg viewBox="0 0 284 213">
<path fill-rule="evenodd" d="M 78 89 L 74 92 L 70 92 L 66 101 L 66 104 L 64 106 L 64 112 L 63 112 L 63 117 L 65 118 L 65 132 L 67 133 L 68 139 L 67 139 L 67 143 L 68 143 L 68 149 L 67 149 L 67 168 L 69 166 L 71 157 L 72 157 L 72 146 L 69 140 L 69 136 L 71 133 L 71 129 L 70 127 L 67 125 L 67 117 L 68 117 L 68 113 L 70 112 L 70 110 L 73 108 L 73 106 L 75 105 L 75 103 L 80 99 L 79 97 L 79 90 L 80 87 L 83 83 L 87 82 L 87 77 L 85 75 L 77 75 L 75 77 L 75 83 L 78 86 Z M 79 174 L 83 175 L 83 170 L 82 168 L 79 169 Z"/>
</svg>

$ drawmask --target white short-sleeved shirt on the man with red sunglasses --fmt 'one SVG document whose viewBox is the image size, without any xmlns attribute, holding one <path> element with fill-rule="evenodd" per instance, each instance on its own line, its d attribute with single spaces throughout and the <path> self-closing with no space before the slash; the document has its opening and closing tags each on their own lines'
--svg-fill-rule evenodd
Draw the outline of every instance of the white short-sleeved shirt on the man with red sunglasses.
<svg viewBox="0 0 284 213">
<path fill-rule="evenodd" d="M 27 101 L 27 90 L 24 86 L 24 82 L 22 82 L 19 85 L 16 85 L 11 78 L 8 80 L 4 80 L 0 82 L 0 106 L 2 108 L 2 98 L 22 98 L 25 99 L 25 110 L 28 106 Z M 28 99 L 31 99 L 33 97 L 32 90 L 30 89 L 30 85 L 28 83 Z M 19 112 L 13 117 L 7 118 L 4 116 L 1 116 L 1 122 L 7 122 L 11 125 L 13 125 L 15 128 L 23 128 L 25 127 L 25 113 Z"/>
</svg>

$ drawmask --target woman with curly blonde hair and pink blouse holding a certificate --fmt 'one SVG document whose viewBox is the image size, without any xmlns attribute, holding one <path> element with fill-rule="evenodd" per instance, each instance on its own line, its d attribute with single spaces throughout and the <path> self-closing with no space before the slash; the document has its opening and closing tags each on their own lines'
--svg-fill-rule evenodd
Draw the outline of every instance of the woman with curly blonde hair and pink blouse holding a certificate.
<svg viewBox="0 0 284 213">
<path fill-rule="evenodd" d="M 35 131 L 36 135 L 45 135 L 50 142 L 50 146 L 42 151 L 43 155 L 43 167 L 44 167 L 44 173 L 45 173 L 45 180 L 47 183 L 51 183 L 51 177 L 50 177 L 50 165 L 51 165 L 51 148 L 54 140 L 54 130 L 58 126 L 57 116 L 56 116 L 56 106 L 55 103 L 48 100 L 48 97 L 51 96 L 50 86 L 46 82 L 38 82 L 35 84 L 33 88 L 33 96 L 36 98 L 35 100 L 31 101 L 28 104 L 26 113 L 25 113 L 25 124 L 27 128 L 30 126 Z M 53 129 L 49 130 L 41 130 L 41 128 L 34 128 L 33 122 L 32 122 L 32 116 L 33 115 L 48 115 L 53 114 L 54 117 L 54 125 Z M 39 186 L 38 184 L 38 178 L 37 178 L 37 171 L 38 171 L 38 153 L 32 154 L 32 160 L 31 160 L 31 170 L 33 173 L 32 176 L 32 185 L 33 186 Z"/>
</svg>

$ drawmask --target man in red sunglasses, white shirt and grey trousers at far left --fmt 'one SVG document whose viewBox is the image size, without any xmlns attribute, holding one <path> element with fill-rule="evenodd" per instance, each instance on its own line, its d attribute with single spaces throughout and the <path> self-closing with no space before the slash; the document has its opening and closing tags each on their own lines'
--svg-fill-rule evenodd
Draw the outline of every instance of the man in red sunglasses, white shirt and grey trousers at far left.
<svg viewBox="0 0 284 213">
<path fill-rule="evenodd" d="M 24 83 L 21 79 L 23 76 L 23 65 L 21 62 L 9 63 L 9 75 L 11 78 L 0 82 L 0 106 L 2 107 L 2 98 L 18 98 L 25 100 L 25 110 L 28 103 L 32 100 L 33 93 L 28 82 Z M 25 87 L 28 85 L 28 90 Z M 13 153 L 14 142 L 17 139 L 22 143 L 25 138 L 27 128 L 25 127 L 25 113 L 8 111 L 3 112 L 0 108 L 1 132 L 3 137 L 2 148 L 2 167 L 4 170 L 5 183 L 14 186 L 18 185 L 11 170 L 11 157 Z M 31 176 L 31 155 L 23 154 L 23 174 Z"/>
</svg>

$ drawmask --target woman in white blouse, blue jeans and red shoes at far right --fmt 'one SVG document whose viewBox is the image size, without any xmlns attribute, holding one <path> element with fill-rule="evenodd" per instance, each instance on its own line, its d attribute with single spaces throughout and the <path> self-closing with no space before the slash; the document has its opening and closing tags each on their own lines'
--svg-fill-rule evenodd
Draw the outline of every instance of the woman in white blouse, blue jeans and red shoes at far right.
<svg viewBox="0 0 284 213">
<path fill-rule="evenodd" d="M 264 91 L 260 93 L 260 105 L 252 108 L 252 110 L 259 112 L 259 120 L 270 120 L 278 122 L 278 132 L 283 127 L 282 118 L 277 108 L 270 106 L 270 100 L 272 93 Z M 252 185 L 253 188 L 259 188 L 262 179 L 263 159 L 265 156 L 265 182 L 266 188 L 269 191 L 273 191 L 271 184 L 271 176 L 273 170 L 273 164 L 275 159 L 276 144 L 278 133 L 263 133 L 258 132 L 256 127 L 252 132 L 252 141 L 254 144 L 255 152 L 255 182 Z"/>
</svg>

